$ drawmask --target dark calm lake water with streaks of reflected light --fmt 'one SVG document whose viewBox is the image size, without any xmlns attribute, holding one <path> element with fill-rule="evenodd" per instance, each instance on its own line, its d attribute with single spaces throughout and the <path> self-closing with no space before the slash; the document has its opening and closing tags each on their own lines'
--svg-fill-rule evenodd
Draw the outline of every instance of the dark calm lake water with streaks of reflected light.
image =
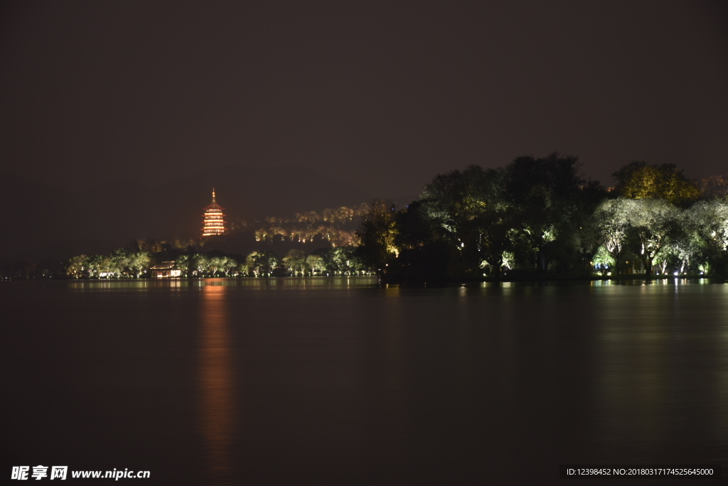
<svg viewBox="0 0 728 486">
<path fill-rule="evenodd" d="M 3 283 L 0 474 L 574 485 L 560 464 L 725 467 L 728 285 L 702 282 Z"/>
</svg>

